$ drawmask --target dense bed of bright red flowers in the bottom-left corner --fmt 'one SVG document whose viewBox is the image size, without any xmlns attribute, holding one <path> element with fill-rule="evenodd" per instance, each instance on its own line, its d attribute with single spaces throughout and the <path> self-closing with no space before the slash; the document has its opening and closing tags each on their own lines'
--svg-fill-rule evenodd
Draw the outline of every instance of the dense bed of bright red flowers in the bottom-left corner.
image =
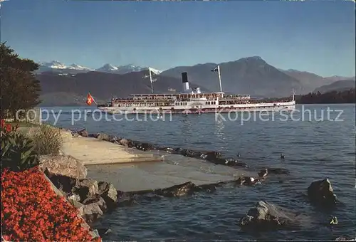
<svg viewBox="0 0 356 242">
<path fill-rule="evenodd" d="M 23 172 L 4 169 L 1 186 L 1 230 L 6 241 L 93 241 L 81 226 L 77 209 L 55 194 L 38 167 Z"/>
</svg>

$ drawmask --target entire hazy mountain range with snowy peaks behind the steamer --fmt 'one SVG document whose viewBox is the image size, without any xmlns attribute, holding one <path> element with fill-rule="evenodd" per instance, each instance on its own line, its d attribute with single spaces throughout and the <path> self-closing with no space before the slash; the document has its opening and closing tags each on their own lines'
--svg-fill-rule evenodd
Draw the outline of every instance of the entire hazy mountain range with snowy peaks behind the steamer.
<svg viewBox="0 0 356 242">
<path fill-rule="evenodd" d="M 88 92 L 97 95 L 101 100 L 108 100 L 112 96 L 127 97 L 132 93 L 150 93 L 150 75 L 148 68 L 136 65 L 125 65 L 130 70 L 127 73 L 118 73 L 118 66 L 109 63 L 103 65 L 108 71 L 98 69 L 77 70 L 68 75 L 62 70 L 69 70 L 70 65 L 64 65 L 53 61 L 48 71 L 37 73 L 38 79 L 43 86 L 44 99 L 51 99 L 47 93 L 57 93 L 58 97 L 64 97 L 68 102 L 76 102 L 78 96 L 85 96 Z M 295 69 L 282 70 L 268 64 L 260 56 L 240 58 L 236 61 L 224 63 L 197 63 L 196 65 L 177 66 L 160 72 L 152 68 L 152 80 L 155 93 L 176 93 L 182 90 L 182 72 L 188 73 L 188 80 L 193 88 L 201 87 L 203 91 L 217 92 L 219 78 L 216 72 L 211 72 L 216 65 L 220 65 L 221 84 L 225 93 L 249 94 L 258 98 L 281 98 L 290 96 L 292 90 L 296 94 L 313 92 L 316 88 L 329 85 L 337 77 L 324 78 L 315 73 L 308 73 Z M 65 66 L 66 69 L 61 69 Z M 85 68 L 81 65 L 72 64 L 73 68 Z M 61 70 L 61 71 L 58 71 Z M 63 93 L 70 95 L 63 95 Z M 74 97 L 77 97 L 76 99 Z M 70 100 L 70 99 L 73 100 Z M 75 100 L 74 100 L 75 99 Z M 51 103 L 55 103 L 51 100 Z M 63 103 L 63 102 L 61 102 Z"/>
</svg>

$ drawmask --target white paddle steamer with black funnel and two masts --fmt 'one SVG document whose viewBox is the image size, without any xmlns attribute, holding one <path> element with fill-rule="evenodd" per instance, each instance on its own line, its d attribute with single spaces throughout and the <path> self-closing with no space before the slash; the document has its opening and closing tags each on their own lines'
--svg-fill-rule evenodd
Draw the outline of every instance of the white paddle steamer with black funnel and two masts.
<svg viewBox="0 0 356 242">
<path fill-rule="evenodd" d="M 182 73 L 183 90 L 181 93 L 155 94 L 152 87 L 150 71 L 151 94 L 132 94 L 130 98 L 112 98 L 105 104 L 98 105 L 98 109 L 120 114 L 135 114 L 147 112 L 172 113 L 172 114 L 201 114 L 204 112 L 253 112 L 253 111 L 279 111 L 294 110 L 294 92 L 288 100 L 267 102 L 252 99 L 250 95 L 226 95 L 221 89 L 219 65 L 220 92 L 201 93 L 200 88 L 189 88 L 188 75 Z"/>
</svg>

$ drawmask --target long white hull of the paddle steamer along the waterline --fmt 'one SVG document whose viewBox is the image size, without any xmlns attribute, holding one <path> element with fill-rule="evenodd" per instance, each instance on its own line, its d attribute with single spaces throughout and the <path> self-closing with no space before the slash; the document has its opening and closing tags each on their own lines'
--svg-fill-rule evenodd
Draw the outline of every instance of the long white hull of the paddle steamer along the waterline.
<svg viewBox="0 0 356 242">
<path fill-rule="evenodd" d="M 255 104 L 240 105 L 210 105 L 208 107 L 187 107 L 177 108 L 172 106 L 164 107 L 98 107 L 103 112 L 110 114 L 202 114 L 202 113 L 227 113 L 227 112 L 278 112 L 295 110 L 295 101 L 290 102 L 261 102 Z"/>
</svg>

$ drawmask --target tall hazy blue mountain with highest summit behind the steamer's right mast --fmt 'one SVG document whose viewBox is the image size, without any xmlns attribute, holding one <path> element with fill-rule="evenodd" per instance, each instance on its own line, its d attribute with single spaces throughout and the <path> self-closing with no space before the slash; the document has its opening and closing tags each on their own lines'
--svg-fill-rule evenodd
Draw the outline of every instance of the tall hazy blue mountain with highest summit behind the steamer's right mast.
<svg viewBox="0 0 356 242">
<path fill-rule="evenodd" d="M 220 65 L 223 91 L 230 93 L 248 93 L 256 96 L 279 97 L 300 92 L 300 81 L 269 65 L 260 56 L 240 58 L 224 63 L 204 63 L 192 66 L 177 66 L 164 70 L 160 75 L 178 78 L 187 72 L 188 79 L 209 90 L 219 91 L 219 78 L 212 69 Z"/>
</svg>

